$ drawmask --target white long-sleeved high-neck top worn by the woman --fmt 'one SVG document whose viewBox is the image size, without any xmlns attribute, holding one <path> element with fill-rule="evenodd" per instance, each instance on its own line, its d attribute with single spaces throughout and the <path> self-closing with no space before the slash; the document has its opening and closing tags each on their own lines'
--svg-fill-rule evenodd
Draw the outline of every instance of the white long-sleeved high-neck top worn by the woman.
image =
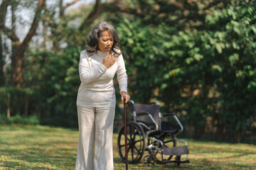
<svg viewBox="0 0 256 170">
<path fill-rule="evenodd" d="M 127 72 L 122 54 L 112 67 L 106 68 L 102 60 L 108 52 L 97 50 L 95 55 L 89 56 L 87 50 L 80 53 L 79 75 L 80 87 L 78 89 L 78 106 L 90 106 L 100 108 L 114 108 L 116 104 L 114 90 L 114 74 L 117 73 L 117 81 L 120 91 L 127 92 Z"/>
</svg>

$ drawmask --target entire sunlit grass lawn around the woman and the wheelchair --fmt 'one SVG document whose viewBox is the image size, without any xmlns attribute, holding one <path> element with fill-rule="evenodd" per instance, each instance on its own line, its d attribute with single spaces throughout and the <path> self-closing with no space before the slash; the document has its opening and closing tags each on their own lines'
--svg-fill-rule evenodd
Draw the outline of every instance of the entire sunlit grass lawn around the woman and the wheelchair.
<svg viewBox="0 0 256 170">
<path fill-rule="evenodd" d="M 256 169 L 256 146 L 188 142 L 191 163 L 155 164 L 152 169 Z M 0 126 L 0 169 L 75 169 L 78 130 L 41 125 Z M 125 169 L 114 134 L 114 169 Z M 129 169 L 149 169 L 142 161 Z"/>
</svg>

